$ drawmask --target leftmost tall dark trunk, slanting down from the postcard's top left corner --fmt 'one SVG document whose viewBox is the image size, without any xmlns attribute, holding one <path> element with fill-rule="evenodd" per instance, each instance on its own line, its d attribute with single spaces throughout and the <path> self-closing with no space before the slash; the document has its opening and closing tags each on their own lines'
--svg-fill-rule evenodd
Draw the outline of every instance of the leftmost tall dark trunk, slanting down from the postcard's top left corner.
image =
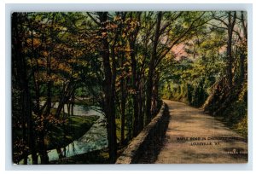
<svg viewBox="0 0 256 174">
<path fill-rule="evenodd" d="M 21 14 L 20 14 L 21 15 Z M 22 38 L 24 37 L 22 27 L 18 27 L 18 25 L 22 21 L 22 16 L 18 16 L 18 13 L 12 14 L 12 45 L 13 45 L 13 66 L 17 70 L 17 80 L 20 84 L 21 95 L 22 95 L 22 115 L 24 120 L 26 120 L 26 129 L 27 133 L 27 141 L 29 149 L 32 153 L 32 164 L 38 164 L 37 152 L 36 152 L 36 141 L 34 136 L 34 127 L 33 127 L 33 119 L 32 119 L 32 99 L 28 86 L 28 78 L 26 72 L 26 60 L 22 53 Z M 21 25 L 21 24 L 20 24 Z"/>
</svg>

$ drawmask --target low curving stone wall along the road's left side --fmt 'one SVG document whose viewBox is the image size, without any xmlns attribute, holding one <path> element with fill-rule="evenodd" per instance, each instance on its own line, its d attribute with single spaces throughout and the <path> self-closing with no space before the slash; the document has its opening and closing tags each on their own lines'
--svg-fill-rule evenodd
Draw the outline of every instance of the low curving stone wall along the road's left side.
<svg viewBox="0 0 256 174">
<path fill-rule="evenodd" d="M 166 135 L 166 128 L 168 125 L 169 114 L 166 103 L 163 102 L 160 107 L 160 112 L 151 120 L 151 122 L 135 137 L 123 154 L 116 160 L 116 164 L 136 164 L 143 163 L 140 159 L 148 155 L 148 153 L 155 153 L 152 148 L 157 147 L 157 143 L 163 142 Z M 150 155 L 150 158 L 153 158 Z"/>
</svg>

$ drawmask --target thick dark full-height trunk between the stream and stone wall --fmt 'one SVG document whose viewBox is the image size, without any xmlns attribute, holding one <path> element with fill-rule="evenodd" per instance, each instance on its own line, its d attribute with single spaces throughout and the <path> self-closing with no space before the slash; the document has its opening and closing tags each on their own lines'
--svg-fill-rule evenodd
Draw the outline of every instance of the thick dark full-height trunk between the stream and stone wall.
<svg viewBox="0 0 256 174">
<path fill-rule="evenodd" d="M 115 109 L 114 109 L 114 83 L 113 74 L 111 72 L 109 60 L 109 44 L 107 20 L 108 12 L 98 13 L 101 21 L 101 36 L 102 36 L 102 61 L 105 79 L 103 81 L 104 92 L 104 113 L 108 120 L 108 153 L 110 163 L 114 163 L 117 158 L 117 143 L 116 143 L 116 125 L 115 125 Z"/>
</svg>

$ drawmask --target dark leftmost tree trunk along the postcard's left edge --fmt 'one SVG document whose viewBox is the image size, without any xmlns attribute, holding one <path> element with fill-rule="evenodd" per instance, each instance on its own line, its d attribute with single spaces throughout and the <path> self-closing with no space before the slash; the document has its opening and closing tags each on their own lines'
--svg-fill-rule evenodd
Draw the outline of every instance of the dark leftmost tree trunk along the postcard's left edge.
<svg viewBox="0 0 256 174">
<path fill-rule="evenodd" d="M 35 136 L 33 133 L 33 119 L 32 119 L 32 99 L 31 92 L 28 87 L 28 72 L 26 66 L 26 58 L 22 47 L 24 45 L 24 36 L 26 35 L 26 28 L 23 22 L 26 22 L 26 14 L 12 14 L 12 59 L 13 59 L 13 78 L 19 82 L 19 90 L 21 95 L 21 119 L 23 129 L 23 142 L 25 143 L 25 151 L 23 158 L 26 159 L 28 153 L 32 153 L 32 163 L 37 164 L 37 154 L 35 149 Z M 29 151 L 26 149 L 29 148 Z M 25 160 L 26 163 L 26 160 Z"/>
</svg>

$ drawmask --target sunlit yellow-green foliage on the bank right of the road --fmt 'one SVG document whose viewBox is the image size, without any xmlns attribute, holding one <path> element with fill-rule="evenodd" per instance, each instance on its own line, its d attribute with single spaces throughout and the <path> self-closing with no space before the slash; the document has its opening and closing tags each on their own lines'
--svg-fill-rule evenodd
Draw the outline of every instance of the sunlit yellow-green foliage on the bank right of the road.
<svg viewBox="0 0 256 174">
<path fill-rule="evenodd" d="M 220 18 L 224 18 L 225 13 L 220 14 L 223 14 Z M 247 36 L 241 34 L 236 40 L 237 36 L 233 35 L 232 40 L 236 42 L 232 51 L 234 60 L 231 62 L 234 67 L 234 86 L 229 89 L 227 67 L 230 61 L 226 55 L 228 37 L 225 28 L 216 25 L 217 21 L 218 18 L 215 18 L 205 28 L 200 28 L 195 37 L 184 42 L 182 55 L 177 57 L 174 52 L 171 58 L 162 61 L 164 71 L 160 94 L 163 98 L 203 107 L 207 112 L 221 117 L 241 136 L 247 136 Z M 242 22 L 244 20 L 237 23 L 236 27 L 245 29 L 245 26 L 240 26 Z"/>
</svg>

